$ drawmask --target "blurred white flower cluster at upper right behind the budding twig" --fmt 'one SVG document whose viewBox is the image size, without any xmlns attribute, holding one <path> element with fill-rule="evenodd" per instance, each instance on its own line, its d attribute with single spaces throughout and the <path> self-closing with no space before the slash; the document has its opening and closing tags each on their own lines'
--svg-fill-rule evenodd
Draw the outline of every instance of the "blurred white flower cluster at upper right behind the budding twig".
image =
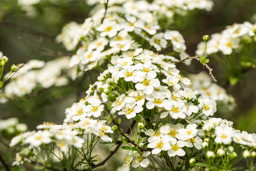
<svg viewBox="0 0 256 171">
<path fill-rule="evenodd" d="M 221 51 L 224 55 L 230 55 L 233 50 L 239 49 L 241 41 L 255 41 L 256 24 L 244 22 L 242 24 L 235 23 L 228 26 L 221 33 L 212 34 L 207 43 L 207 54 L 213 54 Z M 197 55 L 205 54 L 205 42 L 200 42 L 197 45 Z"/>
</svg>

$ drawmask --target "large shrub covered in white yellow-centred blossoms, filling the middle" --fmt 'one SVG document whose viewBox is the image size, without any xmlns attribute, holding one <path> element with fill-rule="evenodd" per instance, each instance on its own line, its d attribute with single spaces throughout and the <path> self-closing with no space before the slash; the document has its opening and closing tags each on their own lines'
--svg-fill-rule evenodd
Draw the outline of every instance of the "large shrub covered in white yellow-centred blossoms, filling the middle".
<svg viewBox="0 0 256 171">
<path fill-rule="evenodd" d="M 34 3 L 39 1 L 30 5 Z M 256 156 L 256 135 L 213 117 L 216 101 L 231 103 L 232 97 L 202 77 L 190 76 L 190 81 L 176 68 L 177 63 L 196 59 L 216 80 L 206 58 L 209 48 L 200 58 L 189 56 L 180 32 L 160 27 L 174 13 L 210 10 L 213 2 L 106 1 L 104 5 L 84 23 L 68 23 L 56 37 L 67 50 L 75 51 L 70 60 L 30 60 L 17 72 L 11 69 L 15 74 L 4 87 L 6 98 L 23 96 L 36 86 L 65 85 L 67 78 L 82 78 L 90 70 L 97 74 L 96 82 L 92 75 L 87 78 L 91 84 L 86 97 L 66 109 L 63 124 L 43 123 L 36 127 L 38 131 L 11 140 L 11 147 L 22 146 L 13 165 L 29 162 L 51 170 L 92 170 L 123 149 L 128 151 L 124 171 L 131 167 L 236 170 L 240 168 L 234 165 L 242 158 L 247 159 L 249 170 L 255 170 L 249 162 Z M 210 38 L 203 39 L 206 47 Z M 166 54 L 165 48 L 173 51 Z M 94 149 L 99 144 L 114 146 L 103 161 L 96 159 L 100 153 Z"/>
</svg>

